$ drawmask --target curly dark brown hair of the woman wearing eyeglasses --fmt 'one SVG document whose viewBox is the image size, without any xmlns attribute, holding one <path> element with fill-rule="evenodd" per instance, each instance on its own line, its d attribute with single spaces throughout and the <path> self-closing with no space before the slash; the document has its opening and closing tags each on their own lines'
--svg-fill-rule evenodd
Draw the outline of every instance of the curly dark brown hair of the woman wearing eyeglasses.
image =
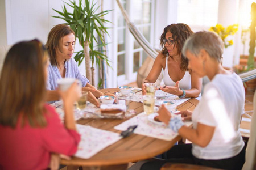
<svg viewBox="0 0 256 170">
<path fill-rule="evenodd" d="M 174 39 L 174 46 L 177 46 L 177 51 L 179 54 L 181 54 L 181 50 L 183 48 L 183 45 L 185 43 L 185 40 L 188 39 L 189 36 L 192 35 L 193 31 L 187 24 L 171 24 L 164 28 L 164 31 L 160 37 L 160 46 L 162 46 L 162 51 L 160 53 L 163 54 L 164 57 L 167 56 L 168 51 L 166 47 L 164 46 L 163 40 L 166 38 L 166 33 L 171 32 L 172 33 L 172 39 Z M 170 56 L 173 58 L 172 56 Z M 181 70 L 188 70 L 188 59 L 181 54 Z"/>
</svg>

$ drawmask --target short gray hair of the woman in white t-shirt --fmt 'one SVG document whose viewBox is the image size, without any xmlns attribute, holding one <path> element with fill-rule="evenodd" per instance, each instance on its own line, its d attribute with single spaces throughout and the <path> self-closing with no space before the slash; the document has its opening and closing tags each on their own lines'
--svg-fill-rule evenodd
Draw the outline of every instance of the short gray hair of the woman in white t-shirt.
<svg viewBox="0 0 256 170">
<path fill-rule="evenodd" d="M 193 55 L 198 56 L 200 50 L 204 49 L 211 58 L 221 63 L 223 48 L 224 42 L 216 33 L 200 31 L 194 33 L 185 41 L 182 54 L 185 56 L 185 53 L 189 50 Z"/>
</svg>

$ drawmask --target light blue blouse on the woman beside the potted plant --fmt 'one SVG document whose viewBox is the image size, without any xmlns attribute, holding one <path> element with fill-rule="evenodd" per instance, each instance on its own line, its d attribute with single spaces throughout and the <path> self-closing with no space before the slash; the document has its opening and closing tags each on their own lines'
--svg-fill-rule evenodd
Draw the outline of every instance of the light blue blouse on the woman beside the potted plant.
<svg viewBox="0 0 256 170">
<path fill-rule="evenodd" d="M 82 87 L 85 87 L 87 83 L 90 83 L 85 76 L 80 74 L 79 67 L 77 66 L 75 59 L 71 58 L 69 60 L 66 60 L 64 63 L 64 67 L 66 69 L 65 77 L 79 79 L 82 82 Z M 57 66 L 52 66 L 50 63 L 48 67 L 48 80 L 46 84 L 46 89 L 56 90 L 57 80 L 59 79 L 62 79 L 59 69 L 57 68 Z"/>
</svg>

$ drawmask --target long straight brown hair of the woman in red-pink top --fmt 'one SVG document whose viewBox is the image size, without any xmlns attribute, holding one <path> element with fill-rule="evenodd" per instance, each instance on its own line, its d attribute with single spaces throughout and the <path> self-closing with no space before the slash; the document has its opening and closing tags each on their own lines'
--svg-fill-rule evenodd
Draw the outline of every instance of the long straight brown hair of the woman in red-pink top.
<svg viewBox="0 0 256 170">
<path fill-rule="evenodd" d="M 0 77 L 0 124 L 15 128 L 22 125 L 44 127 L 43 106 L 46 95 L 46 48 L 38 40 L 22 41 L 7 53 Z"/>
</svg>

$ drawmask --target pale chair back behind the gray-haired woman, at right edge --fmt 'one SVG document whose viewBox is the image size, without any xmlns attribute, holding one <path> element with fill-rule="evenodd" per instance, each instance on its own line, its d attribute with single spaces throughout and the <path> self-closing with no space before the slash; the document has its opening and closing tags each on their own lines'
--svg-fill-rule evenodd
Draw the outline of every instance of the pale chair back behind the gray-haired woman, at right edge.
<svg viewBox="0 0 256 170">
<path fill-rule="evenodd" d="M 243 170 L 256 169 L 256 92 L 253 97 L 253 117 L 251 118 L 250 138 L 246 147 Z"/>
</svg>

